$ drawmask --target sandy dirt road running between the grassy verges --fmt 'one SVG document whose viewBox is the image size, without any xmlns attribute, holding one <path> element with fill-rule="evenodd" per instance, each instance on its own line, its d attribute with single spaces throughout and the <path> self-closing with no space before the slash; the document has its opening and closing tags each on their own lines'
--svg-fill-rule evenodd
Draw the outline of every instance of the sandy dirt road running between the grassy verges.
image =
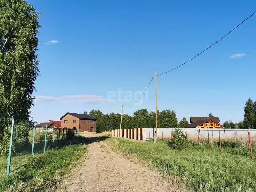
<svg viewBox="0 0 256 192">
<path fill-rule="evenodd" d="M 58 192 L 165 192 L 176 190 L 156 171 L 142 167 L 94 135 L 81 162 L 65 176 Z"/>
</svg>

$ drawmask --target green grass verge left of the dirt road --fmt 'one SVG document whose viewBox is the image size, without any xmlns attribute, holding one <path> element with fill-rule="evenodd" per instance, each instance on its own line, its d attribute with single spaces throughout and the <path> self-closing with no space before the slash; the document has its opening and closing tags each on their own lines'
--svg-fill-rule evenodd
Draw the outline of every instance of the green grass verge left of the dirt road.
<svg viewBox="0 0 256 192">
<path fill-rule="evenodd" d="M 39 143 L 34 156 L 31 156 L 28 146 L 12 156 L 11 170 L 25 165 L 8 178 L 5 177 L 7 158 L 0 158 L 0 191 L 43 191 L 57 186 L 60 176 L 70 170 L 86 150 L 84 143 L 84 137 L 77 137 L 69 141 L 68 146 L 48 150 L 45 154 L 44 143 Z"/>
</svg>

